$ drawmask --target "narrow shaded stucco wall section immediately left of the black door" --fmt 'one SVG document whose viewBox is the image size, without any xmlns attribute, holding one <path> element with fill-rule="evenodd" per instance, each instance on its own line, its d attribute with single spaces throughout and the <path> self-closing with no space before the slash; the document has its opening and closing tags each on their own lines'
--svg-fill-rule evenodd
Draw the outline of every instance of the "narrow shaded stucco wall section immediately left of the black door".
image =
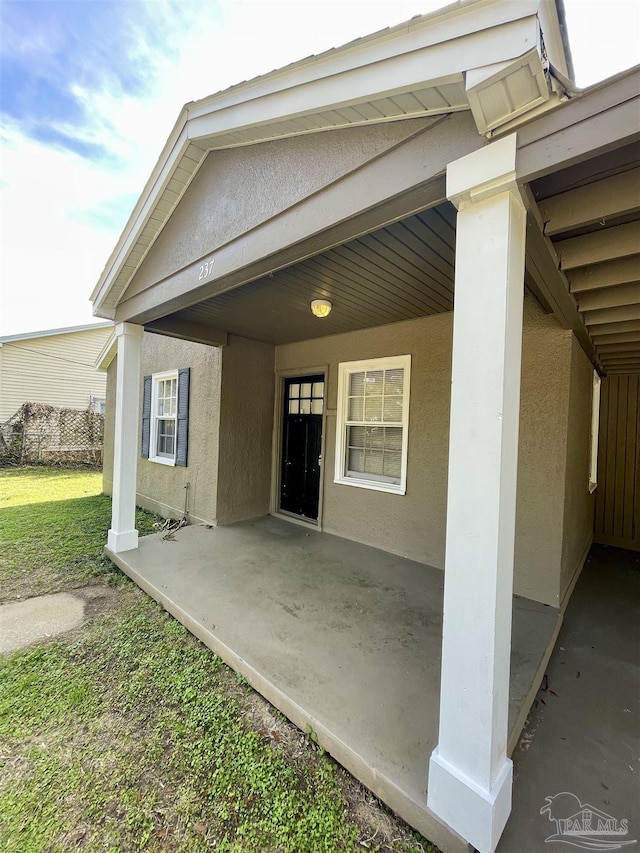
<svg viewBox="0 0 640 853">
<path fill-rule="evenodd" d="M 229 336 L 222 350 L 217 521 L 269 512 L 274 348 Z"/>
</svg>

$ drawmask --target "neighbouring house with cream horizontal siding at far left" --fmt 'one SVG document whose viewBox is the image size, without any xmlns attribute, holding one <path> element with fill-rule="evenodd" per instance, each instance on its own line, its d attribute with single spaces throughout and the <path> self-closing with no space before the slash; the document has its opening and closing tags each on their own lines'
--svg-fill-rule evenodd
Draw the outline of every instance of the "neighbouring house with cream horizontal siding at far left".
<svg viewBox="0 0 640 853">
<path fill-rule="evenodd" d="M 27 402 L 104 412 L 95 361 L 112 332 L 112 323 L 93 323 L 0 337 L 0 423 Z"/>
</svg>

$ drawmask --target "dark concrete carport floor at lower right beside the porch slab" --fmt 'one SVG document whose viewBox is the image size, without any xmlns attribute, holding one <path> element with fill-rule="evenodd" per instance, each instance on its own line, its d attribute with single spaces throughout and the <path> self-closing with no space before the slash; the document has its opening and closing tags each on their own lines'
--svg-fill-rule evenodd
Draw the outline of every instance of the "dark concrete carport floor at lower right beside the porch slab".
<svg viewBox="0 0 640 853">
<path fill-rule="evenodd" d="M 513 754 L 513 811 L 497 853 L 640 850 L 640 553 L 593 546 L 543 687 Z M 552 815 L 540 813 L 565 792 Z M 600 846 L 562 836 L 546 843 L 553 814 L 580 811 L 575 798 L 627 820 L 628 833 L 605 833 Z"/>
</svg>

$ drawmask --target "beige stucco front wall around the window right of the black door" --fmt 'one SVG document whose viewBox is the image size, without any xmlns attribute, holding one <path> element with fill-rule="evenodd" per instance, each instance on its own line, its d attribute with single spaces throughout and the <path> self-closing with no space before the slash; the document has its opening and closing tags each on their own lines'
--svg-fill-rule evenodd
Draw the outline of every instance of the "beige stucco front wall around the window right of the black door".
<svg viewBox="0 0 640 853">
<path fill-rule="evenodd" d="M 323 529 L 444 567 L 452 314 L 277 347 L 278 371 L 328 366 Z M 406 495 L 333 482 L 338 363 L 412 356 Z M 559 602 L 571 336 L 525 300 L 515 591 Z"/>
</svg>

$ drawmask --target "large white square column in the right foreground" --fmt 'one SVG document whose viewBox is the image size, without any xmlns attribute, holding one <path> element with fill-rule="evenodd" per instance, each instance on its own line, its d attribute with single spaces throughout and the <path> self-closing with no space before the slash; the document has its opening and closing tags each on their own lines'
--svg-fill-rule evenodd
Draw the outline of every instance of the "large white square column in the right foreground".
<svg viewBox="0 0 640 853">
<path fill-rule="evenodd" d="M 440 730 L 428 806 L 481 853 L 507 758 L 526 211 L 515 134 L 451 163 L 458 208 Z"/>
</svg>

